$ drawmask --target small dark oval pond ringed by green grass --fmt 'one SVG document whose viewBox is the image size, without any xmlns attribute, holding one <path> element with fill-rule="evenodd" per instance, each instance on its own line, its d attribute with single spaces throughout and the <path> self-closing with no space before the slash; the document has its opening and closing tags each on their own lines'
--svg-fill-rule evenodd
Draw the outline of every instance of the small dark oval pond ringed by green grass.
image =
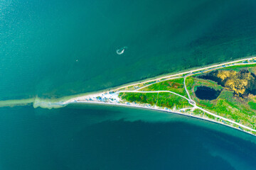
<svg viewBox="0 0 256 170">
<path fill-rule="evenodd" d="M 196 94 L 196 97 L 201 100 L 211 101 L 218 98 L 218 96 L 220 95 L 220 92 L 221 91 L 216 91 L 207 86 L 198 86 L 195 91 L 195 94 Z"/>
</svg>

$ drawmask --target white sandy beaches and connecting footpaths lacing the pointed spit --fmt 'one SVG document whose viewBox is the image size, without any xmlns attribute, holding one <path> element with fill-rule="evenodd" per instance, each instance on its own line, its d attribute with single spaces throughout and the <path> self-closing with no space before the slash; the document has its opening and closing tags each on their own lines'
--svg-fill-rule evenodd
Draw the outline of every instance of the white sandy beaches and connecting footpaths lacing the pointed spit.
<svg viewBox="0 0 256 170">
<path fill-rule="evenodd" d="M 241 123 L 235 122 L 233 120 L 230 120 L 228 118 L 224 118 L 223 116 L 217 115 L 215 113 L 211 113 L 210 111 L 207 111 L 205 108 L 201 108 L 199 106 L 197 106 L 196 101 L 193 101 L 193 98 L 191 97 L 191 94 L 186 86 L 186 80 L 188 77 L 191 76 L 195 76 L 196 74 L 202 74 L 202 73 L 206 73 L 206 72 L 211 72 L 215 69 L 223 69 L 223 68 L 228 68 L 228 67 L 233 67 L 233 66 L 242 66 L 242 65 L 249 65 L 249 64 L 256 64 L 256 57 L 248 57 L 242 60 L 235 60 L 233 62 L 225 62 L 222 64 L 213 64 L 211 66 L 208 67 L 203 67 L 200 69 L 193 69 L 191 71 L 187 71 L 187 72 L 181 72 L 178 74 L 172 74 L 172 75 L 168 75 L 168 76 L 164 76 L 164 77 L 158 77 L 156 79 L 151 79 L 151 80 L 147 80 L 147 81 L 143 81 L 140 83 L 135 83 L 135 84 L 129 84 L 126 86 L 122 86 L 119 87 L 117 89 L 113 89 L 110 91 L 104 91 L 104 92 L 100 92 L 97 94 L 90 94 L 90 95 L 85 95 L 85 96 L 80 96 L 80 97 L 76 97 L 76 98 L 71 98 L 67 101 L 61 101 L 58 102 L 58 105 L 62 105 L 62 106 L 66 106 L 69 103 L 105 103 L 105 104 L 113 104 L 113 105 L 122 105 L 122 106 L 134 106 L 134 107 L 140 107 L 140 108 L 149 108 L 149 109 L 154 109 L 154 110 L 159 110 L 159 111 L 168 111 L 171 113 L 178 113 L 178 114 L 183 114 L 183 115 L 190 115 L 193 117 L 196 117 L 195 115 L 193 115 L 193 113 L 191 113 L 190 111 L 196 111 L 196 110 L 200 110 L 203 113 L 206 113 L 208 115 L 213 116 L 214 118 L 218 118 L 220 120 L 212 120 L 212 121 L 217 121 L 218 123 L 222 123 L 223 124 L 223 120 L 225 120 L 226 122 L 230 123 L 230 124 L 225 124 L 225 125 L 233 125 L 233 128 L 237 128 L 234 125 L 238 125 L 239 128 L 244 128 L 246 130 L 250 130 L 250 133 L 252 134 L 252 132 L 256 132 L 256 130 L 247 127 L 246 125 L 242 125 Z M 186 91 L 186 95 L 184 96 L 183 94 L 178 94 L 176 91 L 171 91 L 171 90 L 150 90 L 150 91 L 142 91 L 143 89 L 150 89 L 150 86 L 154 85 L 154 84 L 159 84 L 160 82 L 163 81 L 175 81 L 176 79 L 183 79 L 183 90 L 185 89 Z M 180 82 L 180 81 L 179 81 Z M 149 89 L 148 89 L 149 88 Z M 158 100 L 159 100 L 159 96 L 157 96 L 157 101 L 155 103 L 155 106 L 149 106 L 146 103 L 129 103 L 128 101 L 125 101 L 122 99 L 122 95 L 120 95 L 121 93 L 124 94 L 132 94 L 132 93 L 136 93 L 136 94 L 154 94 L 154 93 L 169 93 L 169 94 L 174 94 L 175 96 L 181 97 L 186 99 L 186 101 L 188 101 L 188 103 L 193 106 L 193 107 L 187 107 L 188 105 L 186 105 L 186 107 L 181 108 L 179 110 L 171 110 L 171 108 L 162 108 L 161 106 L 157 106 L 158 105 Z M 38 103 L 38 105 L 41 103 Z M 54 105 L 55 103 L 51 103 L 52 105 Z M 36 103 L 34 103 L 35 106 Z M 202 119 L 207 119 L 207 118 L 203 118 Z M 208 118 L 207 120 L 210 120 L 210 118 Z M 245 131 L 248 132 L 248 131 Z"/>
</svg>

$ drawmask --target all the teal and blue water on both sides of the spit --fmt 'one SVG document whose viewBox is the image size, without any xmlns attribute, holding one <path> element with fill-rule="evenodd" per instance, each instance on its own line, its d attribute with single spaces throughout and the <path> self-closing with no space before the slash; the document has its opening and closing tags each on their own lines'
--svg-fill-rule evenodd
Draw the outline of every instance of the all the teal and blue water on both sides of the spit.
<svg viewBox="0 0 256 170">
<path fill-rule="evenodd" d="M 255 47 L 253 0 L 0 1 L 0 101 L 110 89 Z M 251 135 L 158 111 L 0 107 L 0 169 L 255 169 L 255 151 Z"/>
</svg>

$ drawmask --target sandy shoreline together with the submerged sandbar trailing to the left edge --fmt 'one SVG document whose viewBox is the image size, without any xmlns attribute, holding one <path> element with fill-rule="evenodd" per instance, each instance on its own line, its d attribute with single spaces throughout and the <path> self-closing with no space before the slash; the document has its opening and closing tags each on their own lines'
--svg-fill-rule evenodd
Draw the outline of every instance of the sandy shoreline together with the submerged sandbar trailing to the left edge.
<svg viewBox="0 0 256 170">
<path fill-rule="evenodd" d="M 249 60 L 252 60 L 249 62 Z M 215 115 L 213 113 L 208 113 L 208 111 L 204 110 L 204 109 L 200 109 L 201 111 L 205 112 L 205 113 L 208 113 L 210 115 L 213 115 L 215 118 L 219 118 L 220 120 L 214 120 L 214 119 L 210 119 L 210 118 L 203 118 L 203 117 L 200 117 L 200 116 L 197 116 L 197 115 L 194 115 L 193 113 L 181 113 L 182 110 L 179 110 L 179 111 L 171 111 L 171 109 L 169 108 L 159 108 L 159 107 L 156 107 L 156 106 L 146 106 L 146 103 L 144 104 L 144 106 L 142 106 L 142 104 L 137 104 L 137 103 L 128 103 L 128 102 L 125 102 L 125 103 L 120 103 L 119 101 L 122 101 L 121 98 L 119 98 L 118 94 L 120 89 L 125 89 L 127 87 L 131 87 L 131 86 L 136 86 L 136 85 L 139 85 L 139 84 L 143 84 L 145 85 L 146 83 L 149 83 L 149 82 L 152 82 L 152 81 L 156 81 L 156 82 L 159 82 L 159 81 L 165 81 L 166 79 L 176 79 L 178 77 L 182 77 L 184 79 L 186 79 L 186 77 L 189 77 L 193 74 L 198 74 L 197 72 L 209 72 L 209 71 L 212 71 L 214 69 L 222 69 L 222 68 L 228 68 L 228 67 L 233 67 L 233 66 L 236 66 L 236 65 L 245 65 L 245 64 L 256 64 L 255 62 L 256 60 L 256 56 L 250 56 L 250 57 L 244 57 L 242 59 L 239 59 L 239 60 L 233 60 L 233 61 L 228 61 L 228 62 L 220 62 L 218 64 L 210 64 L 208 66 L 205 66 L 205 67 L 199 67 L 199 68 L 191 68 L 191 69 L 186 69 L 185 71 L 181 71 L 181 72 L 177 72 L 176 74 L 173 72 L 173 73 L 170 73 L 168 75 L 166 74 L 161 74 L 159 75 L 158 77 L 151 77 L 150 79 L 144 79 L 142 81 L 136 81 L 136 82 L 131 82 L 129 83 L 129 85 L 127 84 L 123 84 L 122 86 L 119 86 L 119 87 L 113 87 L 113 88 L 108 88 L 108 89 L 105 89 L 105 90 L 100 90 L 100 91 L 91 91 L 91 92 L 87 92 L 87 93 L 84 93 L 84 94 L 78 94 L 78 95 L 72 95 L 72 96 L 64 96 L 62 98 L 34 98 L 33 101 L 30 101 L 29 103 L 33 104 L 33 107 L 34 108 L 38 108 L 38 107 L 41 107 L 41 108 L 48 108 L 48 109 L 51 109 L 51 108 L 62 108 L 62 107 L 65 107 L 67 106 L 68 104 L 71 104 L 71 103 L 97 103 L 97 104 L 107 104 L 107 105 L 112 105 L 112 106 L 127 106 L 127 107 L 133 107 L 133 108 L 146 108 L 146 109 L 151 109 L 151 110 L 154 110 L 154 111 L 165 111 L 165 112 L 168 112 L 168 113 L 176 113 L 176 114 L 179 114 L 179 115 L 186 115 L 186 116 L 190 116 L 190 117 L 193 117 L 193 118 L 199 118 L 201 120 L 208 120 L 210 122 L 213 122 L 213 123 L 219 123 L 221 125 L 226 125 L 230 128 L 235 128 L 237 130 L 240 130 L 242 132 L 246 132 L 247 134 L 251 134 L 253 136 L 256 136 L 254 133 L 252 133 L 253 131 L 255 132 L 256 130 L 254 129 L 251 129 L 245 125 L 242 125 L 240 123 L 234 123 L 233 120 L 229 120 L 227 118 L 224 118 L 222 116 L 219 116 L 219 115 Z M 247 61 L 247 62 L 245 62 Z M 242 62 L 242 63 L 241 63 Z M 249 62 L 249 63 L 248 63 Z M 154 84 L 154 83 L 153 83 Z M 185 80 L 184 80 L 184 84 L 185 84 Z M 151 84 L 150 84 L 151 85 Z M 147 85 L 145 85 L 147 86 Z M 186 87 L 186 86 L 185 86 Z M 136 90 L 134 90 L 136 91 Z M 132 91 L 131 91 L 132 92 Z M 188 92 L 187 92 L 188 93 Z M 102 101 L 102 100 L 99 100 L 99 98 L 107 98 L 107 101 Z M 113 101 L 114 99 L 114 101 Z M 191 101 L 191 98 L 186 98 L 189 101 Z M 112 101 L 110 101 L 112 100 Z M 15 102 L 14 102 L 15 101 Z M 26 101 L 26 100 L 13 100 L 13 102 L 11 102 L 13 105 L 11 106 L 15 106 L 15 104 L 23 104 L 23 102 L 21 101 Z M 122 101 L 124 102 L 124 101 Z M 5 105 L 1 106 L 1 107 L 4 107 L 4 106 L 10 106 L 7 101 L 0 101 L 0 103 L 5 103 Z M 28 104 L 28 101 L 24 102 L 26 104 Z M 190 103 L 191 104 L 191 103 Z M 193 107 L 193 109 L 196 109 L 196 108 L 199 108 L 198 106 L 196 106 L 196 103 L 192 103 L 191 104 Z M 185 108 L 186 110 L 186 108 Z M 225 121 L 228 121 L 230 124 L 228 123 L 225 123 Z M 236 127 L 238 126 L 238 128 Z M 243 128 L 243 129 L 242 129 Z M 247 129 L 247 130 L 250 130 L 250 131 L 247 131 L 247 130 L 244 130 Z"/>
</svg>

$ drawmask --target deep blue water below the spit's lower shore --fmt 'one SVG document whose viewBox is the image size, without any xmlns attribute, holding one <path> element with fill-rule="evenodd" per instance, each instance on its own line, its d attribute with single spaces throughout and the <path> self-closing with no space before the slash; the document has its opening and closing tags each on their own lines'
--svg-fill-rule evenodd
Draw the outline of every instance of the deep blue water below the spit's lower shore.
<svg viewBox="0 0 256 170">
<path fill-rule="evenodd" d="M 256 139 L 195 118 L 113 106 L 0 108 L 1 169 L 255 169 Z"/>
</svg>

